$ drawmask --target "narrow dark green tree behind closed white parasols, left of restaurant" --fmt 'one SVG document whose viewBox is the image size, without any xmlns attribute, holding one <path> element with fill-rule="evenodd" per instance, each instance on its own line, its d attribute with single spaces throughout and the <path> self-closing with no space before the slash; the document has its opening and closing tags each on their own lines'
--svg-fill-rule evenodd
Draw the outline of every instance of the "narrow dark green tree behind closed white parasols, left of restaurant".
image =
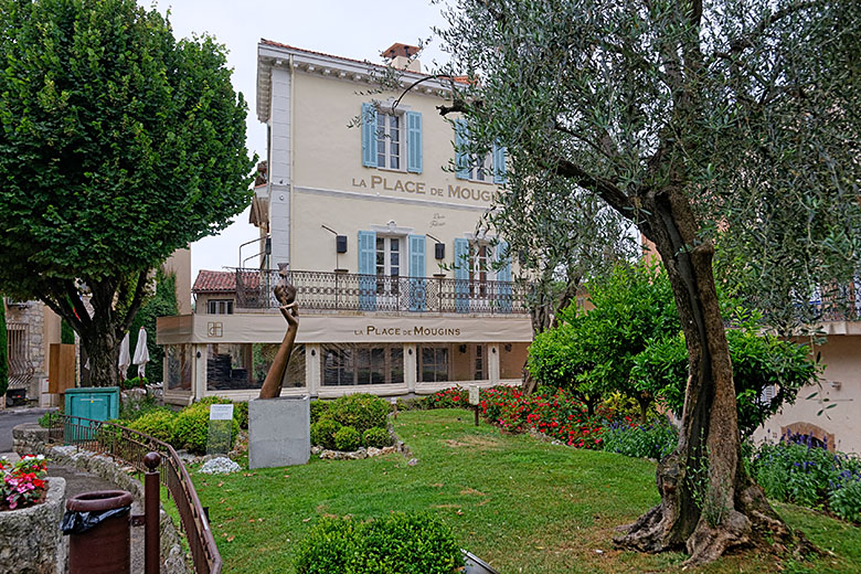
<svg viewBox="0 0 861 574">
<path fill-rule="evenodd" d="M 164 348 L 156 344 L 156 320 L 159 317 L 170 317 L 179 313 L 177 305 L 177 275 L 166 273 L 161 267 L 156 272 L 156 293 L 147 299 L 140 311 L 135 316 L 129 330 L 129 349 L 134 353 L 138 344 L 140 328 L 147 330 L 147 349 L 149 362 L 147 363 L 147 379 L 149 381 L 163 381 Z M 137 366 L 131 365 L 137 374 Z"/>
</svg>

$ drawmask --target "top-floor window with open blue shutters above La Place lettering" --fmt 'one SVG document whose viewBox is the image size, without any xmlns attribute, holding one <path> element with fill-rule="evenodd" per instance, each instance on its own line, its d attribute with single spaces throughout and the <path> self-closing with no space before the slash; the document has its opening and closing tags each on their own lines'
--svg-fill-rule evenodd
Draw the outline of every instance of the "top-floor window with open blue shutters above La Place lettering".
<svg viewBox="0 0 861 574">
<path fill-rule="evenodd" d="M 422 114 L 362 104 L 362 166 L 422 173 Z"/>
</svg>

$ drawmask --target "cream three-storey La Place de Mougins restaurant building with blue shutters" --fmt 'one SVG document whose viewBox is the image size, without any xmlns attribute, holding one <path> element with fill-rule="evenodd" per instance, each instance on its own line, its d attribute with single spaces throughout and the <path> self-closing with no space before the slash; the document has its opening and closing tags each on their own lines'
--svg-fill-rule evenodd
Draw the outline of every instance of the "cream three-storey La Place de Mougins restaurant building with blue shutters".
<svg viewBox="0 0 861 574">
<path fill-rule="evenodd" d="M 456 152 L 467 126 L 439 115 L 448 87 L 421 73 L 415 50 L 384 53 L 403 85 L 425 78 L 403 94 L 380 93 L 383 66 L 259 43 L 268 149 L 252 223 L 263 263 L 202 272 L 195 313 L 160 319 L 168 400 L 256 396 L 286 330 L 272 296 L 280 268 L 301 313 L 285 394 L 521 379 L 525 287 L 512 280 L 506 244 L 477 231 L 504 181 L 504 150 Z"/>
</svg>

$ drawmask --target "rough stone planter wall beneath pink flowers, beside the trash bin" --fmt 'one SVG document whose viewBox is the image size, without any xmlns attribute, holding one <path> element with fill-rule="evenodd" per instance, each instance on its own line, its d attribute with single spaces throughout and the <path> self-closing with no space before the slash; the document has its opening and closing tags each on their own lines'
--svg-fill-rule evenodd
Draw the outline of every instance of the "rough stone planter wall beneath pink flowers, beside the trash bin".
<svg viewBox="0 0 861 574">
<path fill-rule="evenodd" d="M 18 574 L 64 574 L 68 536 L 60 520 L 66 501 L 66 481 L 49 477 L 45 501 L 0 512 L 0 570 Z"/>
</svg>

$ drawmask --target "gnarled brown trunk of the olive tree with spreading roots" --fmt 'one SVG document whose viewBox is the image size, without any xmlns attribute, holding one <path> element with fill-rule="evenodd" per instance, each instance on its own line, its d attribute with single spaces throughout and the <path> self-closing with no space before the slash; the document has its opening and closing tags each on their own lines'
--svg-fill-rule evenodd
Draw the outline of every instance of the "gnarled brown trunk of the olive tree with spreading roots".
<svg viewBox="0 0 861 574">
<path fill-rule="evenodd" d="M 677 449 L 658 465 L 661 503 L 615 542 L 646 552 L 687 550 L 689 563 L 741 545 L 788 543 L 793 532 L 747 476 L 741 455 L 730 350 L 712 274 L 713 246 L 682 189 L 651 194 L 644 232 L 670 278 L 688 347 L 689 378 Z M 770 544 L 770 543 L 769 543 Z"/>
</svg>

